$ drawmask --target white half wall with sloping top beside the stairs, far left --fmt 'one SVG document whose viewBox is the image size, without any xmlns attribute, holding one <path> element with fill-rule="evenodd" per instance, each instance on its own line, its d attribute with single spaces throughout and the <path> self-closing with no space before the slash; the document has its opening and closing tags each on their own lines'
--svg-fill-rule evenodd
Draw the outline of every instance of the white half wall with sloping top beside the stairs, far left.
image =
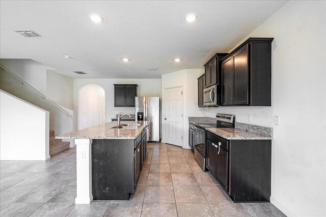
<svg viewBox="0 0 326 217">
<path fill-rule="evenodd" d="M 0 98 L 0 159 L 49 159 L 49 112 L 3 90 Z"/>
</svg>

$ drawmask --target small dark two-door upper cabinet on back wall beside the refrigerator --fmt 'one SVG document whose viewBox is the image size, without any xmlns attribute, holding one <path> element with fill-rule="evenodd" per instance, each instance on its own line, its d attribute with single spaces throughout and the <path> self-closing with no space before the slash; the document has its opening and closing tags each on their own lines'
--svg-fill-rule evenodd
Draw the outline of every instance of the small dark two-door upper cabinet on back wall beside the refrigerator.
<svg viewBox="0 0 326 217">
<path fill-rule="evenodd" d="M 114 106 L 134 107 L 137 84 L 114 84 Z"/>
</svg>

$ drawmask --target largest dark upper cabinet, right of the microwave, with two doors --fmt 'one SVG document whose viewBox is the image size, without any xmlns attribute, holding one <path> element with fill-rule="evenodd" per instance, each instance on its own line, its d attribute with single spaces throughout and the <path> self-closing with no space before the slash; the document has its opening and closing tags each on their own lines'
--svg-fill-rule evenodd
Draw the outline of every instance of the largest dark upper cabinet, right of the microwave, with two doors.
<svg viewBox="0 0 326 217">
<path fill-rule="evenodd" d="M 271 105 L 271 42 L 249 38 L 222 59 L 222 106 Z"/>
</svg>

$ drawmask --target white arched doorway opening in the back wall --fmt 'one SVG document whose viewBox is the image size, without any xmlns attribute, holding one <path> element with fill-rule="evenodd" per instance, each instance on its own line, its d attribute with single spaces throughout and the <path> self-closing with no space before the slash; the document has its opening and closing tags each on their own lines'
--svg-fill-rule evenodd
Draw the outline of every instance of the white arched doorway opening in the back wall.
<svg viewBox="0 0 326 217">
<path fill-rule="evenodd" d="M 78 130 L 105 122 L 105 90 L 88 84 L 78 90 Z"/>
</svg>

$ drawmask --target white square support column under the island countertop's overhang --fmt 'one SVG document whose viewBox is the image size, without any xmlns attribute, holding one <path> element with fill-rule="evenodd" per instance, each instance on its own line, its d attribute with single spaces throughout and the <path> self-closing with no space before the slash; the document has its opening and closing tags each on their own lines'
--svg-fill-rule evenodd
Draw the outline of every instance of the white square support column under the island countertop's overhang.
<svg viewBox="0 0 326 217">
<path fill-rule="evenodd" d="M 92 139 L 75 139 L 77 146 L 77 197 L 76 204 L 90 204 L 92 196 Z"/>
</svg>

